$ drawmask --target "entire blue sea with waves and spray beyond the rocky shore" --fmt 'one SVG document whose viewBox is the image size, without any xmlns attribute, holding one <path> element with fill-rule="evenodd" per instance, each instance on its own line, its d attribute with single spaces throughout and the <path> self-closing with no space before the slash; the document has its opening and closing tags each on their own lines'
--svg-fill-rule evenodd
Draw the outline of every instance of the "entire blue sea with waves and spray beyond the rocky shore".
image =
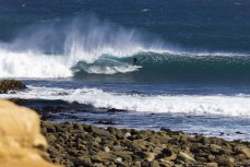
<svg viewBox="0 0 250 167">
<path fill-rule="evenodd" d="M 250 1 L 0 2 L 0 77 L 28 87 L 1 98 L 92 106 L 53 121 L 250 141 Z"/>
</svg>

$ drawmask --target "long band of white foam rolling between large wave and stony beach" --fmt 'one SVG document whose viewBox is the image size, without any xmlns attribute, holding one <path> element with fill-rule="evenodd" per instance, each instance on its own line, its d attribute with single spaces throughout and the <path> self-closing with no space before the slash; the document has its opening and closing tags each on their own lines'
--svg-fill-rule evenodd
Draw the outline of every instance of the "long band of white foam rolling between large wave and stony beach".
<svg viewBox="0 0 250 167">
<path fill-rule="evenodd" d="M 2 98 L 62 99 L 91 104 L 97 108 L 117 108 L 150 112 L 181 112 L 190 115 L 222 115 L 250 117 L 249 96 L 192 96 L 192 95 L 128 95 L 104 92 L 98 88 L 31 87 L 17 94 L 2 94 Z"/>
</svg>

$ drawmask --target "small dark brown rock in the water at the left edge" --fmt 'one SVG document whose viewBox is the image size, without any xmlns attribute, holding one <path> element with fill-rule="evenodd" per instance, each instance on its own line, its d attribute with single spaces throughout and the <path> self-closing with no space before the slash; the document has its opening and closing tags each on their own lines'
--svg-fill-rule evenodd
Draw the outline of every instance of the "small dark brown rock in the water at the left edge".
<svg viewBox="0 0 250 167">
<path fill-rule="evenodd" d="M 25 84 L 16 80 L 3 80 L 0 82 L 0 94 L 5 94 L 9 91 L 21 91 L 26 88 Z"/>
</svg>

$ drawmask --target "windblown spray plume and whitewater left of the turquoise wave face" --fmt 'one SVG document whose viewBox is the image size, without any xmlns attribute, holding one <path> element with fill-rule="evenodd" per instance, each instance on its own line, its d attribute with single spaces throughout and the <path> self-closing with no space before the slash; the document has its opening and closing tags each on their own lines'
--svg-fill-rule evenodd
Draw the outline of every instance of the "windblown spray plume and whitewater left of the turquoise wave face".
<svg viewBox="0 0 250 167">
<path fill-rule="evenodd" d="M 114 27 L 93 16 L 74 19 L 67 24 L 32 25 L 12 43 L 1 43 L 0 74 L 1 77 L 68 77 L 73 75 L 71 68 L 80 61 L 93 63 L 104 55 L 122 58 L 141 51 L 163 51 L 159 40 L 143 38 L 135 29 Z M 126 67 L 129 64 L 123 69 Z M 111 73 L 132 69 L 115 67 Z"/>
</svg>

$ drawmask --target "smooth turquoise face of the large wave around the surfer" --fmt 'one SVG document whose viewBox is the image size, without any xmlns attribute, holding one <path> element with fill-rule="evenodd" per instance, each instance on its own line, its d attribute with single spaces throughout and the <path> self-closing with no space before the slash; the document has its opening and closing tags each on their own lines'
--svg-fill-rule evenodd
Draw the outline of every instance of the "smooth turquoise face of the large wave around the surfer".
<svg viewBox="0 0 250 167">
<path fill-rule="evenodd" d="M 136 57 L 136 65 L 133 58 Z M 126 58 L 99 57 L 79 62 L 75 79 L 129 82 L 250 82 L 250 57 L 142 52 Z"/>
</svg>

